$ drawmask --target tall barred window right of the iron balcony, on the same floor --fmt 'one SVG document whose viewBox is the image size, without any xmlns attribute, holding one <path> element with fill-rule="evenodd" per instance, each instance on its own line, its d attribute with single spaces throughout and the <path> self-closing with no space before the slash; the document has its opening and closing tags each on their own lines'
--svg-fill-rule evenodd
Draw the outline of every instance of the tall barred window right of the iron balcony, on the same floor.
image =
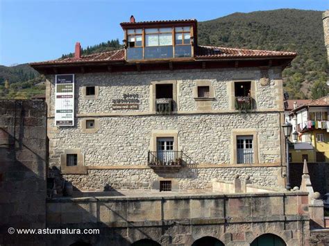
<svg viewBox="0 0 329 246">
<path fill-rule="evenodd" d="M 237 164 L 253 163 L 253 136 L 237 136 Z"/>
</svg>

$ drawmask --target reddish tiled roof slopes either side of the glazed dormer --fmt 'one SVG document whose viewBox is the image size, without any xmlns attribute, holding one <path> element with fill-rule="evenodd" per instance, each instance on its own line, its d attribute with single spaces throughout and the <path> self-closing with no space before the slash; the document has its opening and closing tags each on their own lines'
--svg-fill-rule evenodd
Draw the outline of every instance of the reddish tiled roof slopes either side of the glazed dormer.
<svg viewBox="0 0 329 246">
<path fill-rule="evenodd" d="M 195 60 L 211 60 L 225 58 L 271 58 L 271 57 L 294 57 L 294 52 L 285 51 L 258 51 L 251 49 L 232 49 L 214 46 L 198 46 L 196 48 Z M 107 51 L 82 55 L 81 58 L 60 58 L 46 62 L 33 62 L 31 65 L 72 64 L 92 62 L 124 62 L 124 49 L 118 51 Z"/>
</svg>

